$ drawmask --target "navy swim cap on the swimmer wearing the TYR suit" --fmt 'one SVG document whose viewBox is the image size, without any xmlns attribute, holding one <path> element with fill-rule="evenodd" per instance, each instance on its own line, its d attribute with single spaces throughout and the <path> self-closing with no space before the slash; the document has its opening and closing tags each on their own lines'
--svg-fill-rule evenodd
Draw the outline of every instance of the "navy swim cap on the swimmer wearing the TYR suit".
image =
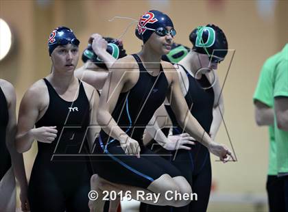
<svg viewBox="0 0 288 212">
<path fill-rule="evenodd" d="M 80 44 L 80 41 L 77 40 L 72 29 L 69 29 L 68 27 L 57 27 L 53 29 L 48 39 L 49 56 L 51 56 L 51 53 L 56 47 L 69 43 L 74 44 L 77 47 Z"/>
</svg>

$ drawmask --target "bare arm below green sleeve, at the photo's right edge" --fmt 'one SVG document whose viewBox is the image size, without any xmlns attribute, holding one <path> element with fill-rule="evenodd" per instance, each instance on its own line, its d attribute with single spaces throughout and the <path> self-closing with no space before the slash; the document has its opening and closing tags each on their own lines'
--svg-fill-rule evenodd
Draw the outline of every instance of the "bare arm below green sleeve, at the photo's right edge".
<svg viewBox="0 0 288 212">
<path fill-rule="evenodd" d="M 288 97 L 275 97 L 274 109 L 277 127 L 283 131 L 288 131 Z"/>
</svg>

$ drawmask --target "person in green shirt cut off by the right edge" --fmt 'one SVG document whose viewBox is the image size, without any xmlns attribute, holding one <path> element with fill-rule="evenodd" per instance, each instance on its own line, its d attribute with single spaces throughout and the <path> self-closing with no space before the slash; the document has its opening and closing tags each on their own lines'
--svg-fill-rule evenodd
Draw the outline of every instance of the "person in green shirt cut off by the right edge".
<svg viewBox="0 0 288 212">
<path fill-rule="evenodd" d="M 288 44 L 281 51 L 272 79 L 277 172 L 284 181 L 285 211 L 288 212 Z"/>
</svg>

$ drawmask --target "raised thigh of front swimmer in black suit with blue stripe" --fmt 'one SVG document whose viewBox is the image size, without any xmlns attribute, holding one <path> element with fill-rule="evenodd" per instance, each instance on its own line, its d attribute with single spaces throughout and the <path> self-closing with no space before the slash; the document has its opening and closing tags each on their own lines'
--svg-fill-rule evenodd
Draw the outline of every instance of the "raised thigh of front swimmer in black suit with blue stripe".
<svg viewBox="0 0 288 212">
<path fill-rule="evenodd" d="M 100 154 L 99 151 L 98 153 Z M 169 174 L 169 171 L 171 174 L 174 173 L 172 173 L 173 165 L 168 161 L 165 161 L 165 165 L 157 165 L 154 160 L 162 158 L 151 151 L 144 150 L 143 153 L 146 155 L 141 154 L 140 158 L 126 155 L 119 146 L 119 142 L 116 141 L 109 144 L 106 153 L 99 155 L 93 161 L 93 167 L 97 174 L 107 181 L 143 188 L 147 188 L 163 174 Z M 147 155 L 147 153 L 149 154 Z M 168 164 L 171 170 L 167 169 Z"/>
</svg>

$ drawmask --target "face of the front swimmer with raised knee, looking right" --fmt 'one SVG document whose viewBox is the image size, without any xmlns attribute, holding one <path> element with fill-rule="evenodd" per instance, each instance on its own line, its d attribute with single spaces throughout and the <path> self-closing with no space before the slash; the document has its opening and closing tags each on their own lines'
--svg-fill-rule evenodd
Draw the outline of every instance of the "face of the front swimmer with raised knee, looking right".
<svg viewBox="0 0 288 212">
<path fill-rule="evenodd" d="M 167 31 L 170 31 L 172 27 L 166 27 Z M 173 37 L 171 34 L 165 36 L 159 36 L 154 32 L 147 42 L 154 51 L 159 55 L 167 55 L 171 51 L 171 45 L 173 44 Z"/>
</svg>

